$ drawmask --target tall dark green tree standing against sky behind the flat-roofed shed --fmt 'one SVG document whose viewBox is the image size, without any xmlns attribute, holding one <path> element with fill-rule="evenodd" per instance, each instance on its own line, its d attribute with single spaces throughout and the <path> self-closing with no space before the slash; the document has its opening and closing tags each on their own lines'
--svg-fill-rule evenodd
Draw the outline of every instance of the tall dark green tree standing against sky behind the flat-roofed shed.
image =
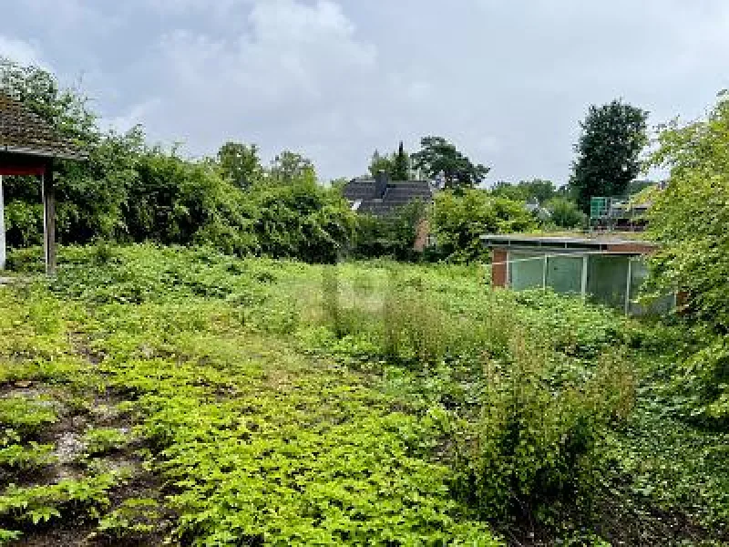
<svg viewBox="0 0 729 547">
<path fill-rule="evenodd" d="M 621 196 L 642 170 L 641 152 L 648 142 L 648 112 L 613 100 L 591 106 L 580 122 L 577 160 L 572 166 L 570 186 L 580 209 L 590 211 L 593 196 Z"/>
</svg>

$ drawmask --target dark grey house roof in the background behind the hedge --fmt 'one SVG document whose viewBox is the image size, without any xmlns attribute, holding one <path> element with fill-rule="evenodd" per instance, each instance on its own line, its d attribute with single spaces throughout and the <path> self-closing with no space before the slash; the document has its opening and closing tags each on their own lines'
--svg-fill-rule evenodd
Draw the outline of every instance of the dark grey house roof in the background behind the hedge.
<svg viewBox="0 0 729 547">
<path fill-rule="evenodd" d="M 346 200 L 356 206 L 356 212 L 368 212 L 377 216 L 394 212 L 410 201 L 433 201 L 433 189 L 429 181 L 388 181 L 380 199 L 376 197 L 375 188 L 374 179 L 354 179 L 344 185 L 342 193 Z"/>
</svg>

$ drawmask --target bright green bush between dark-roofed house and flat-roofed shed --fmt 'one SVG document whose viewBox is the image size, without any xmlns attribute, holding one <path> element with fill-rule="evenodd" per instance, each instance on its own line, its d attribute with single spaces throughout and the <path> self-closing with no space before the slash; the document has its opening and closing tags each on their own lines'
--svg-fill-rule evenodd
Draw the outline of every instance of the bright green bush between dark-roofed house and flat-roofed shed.
<svg viewBox="0 0 729 547">
<path fill-rule="evenodd" d="M 438 247 L 454 262 L 485 260 L 485 233 L 527 232 L 536 223 L 522 203 L 494 198 L 485 191 L 442 191 L 436 195 L 431 228 Z"/>
</svg>

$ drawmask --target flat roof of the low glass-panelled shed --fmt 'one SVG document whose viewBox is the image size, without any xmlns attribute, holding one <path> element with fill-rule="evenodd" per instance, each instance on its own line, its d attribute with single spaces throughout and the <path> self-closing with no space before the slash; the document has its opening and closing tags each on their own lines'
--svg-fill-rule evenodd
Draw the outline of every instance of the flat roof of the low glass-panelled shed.
<svg viewBox="0 0 729 547">
<path fill-rule="evenodd" d="M 481 241 L 488 247 L 508 248 L 539 253 L 540 250 L 551 252 L 602 252 L 611 254 L 646 254 L 652 253 L 658 247 L 655 243 L 634 239 L 625 239 L 619 236 L 599 234 L 594 237 L 588 235 L 529 235 L 524 233 L 485 234 Z"/>
</svg>

